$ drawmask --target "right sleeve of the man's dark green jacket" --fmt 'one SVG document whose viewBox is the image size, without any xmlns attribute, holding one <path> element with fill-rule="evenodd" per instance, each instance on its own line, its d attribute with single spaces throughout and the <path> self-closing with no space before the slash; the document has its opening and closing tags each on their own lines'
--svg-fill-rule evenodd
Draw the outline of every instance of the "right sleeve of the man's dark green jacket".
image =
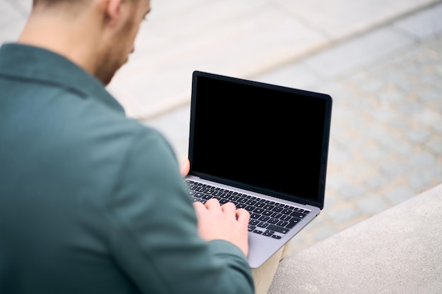
<svg viewBox="0 0 442 294">
<path fill-rule="evenodd" d="M 109 219 L 112 255 L 141 293 L 253 293 L 244 253 L 199 238 L 174 152 L 155 131 L 134 139 Z"/>
</svg>

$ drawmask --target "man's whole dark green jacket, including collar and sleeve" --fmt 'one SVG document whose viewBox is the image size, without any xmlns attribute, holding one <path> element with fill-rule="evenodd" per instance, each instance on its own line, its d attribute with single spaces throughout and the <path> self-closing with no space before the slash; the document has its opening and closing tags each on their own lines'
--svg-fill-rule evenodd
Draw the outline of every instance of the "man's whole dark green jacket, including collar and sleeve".
<svg viewBox="0 0 442 294">
<path fill-rule="evenodd" d="M 169 144 L 50 51 L 0 48 L 0 293 L 252 293 Z"/>
</svg>

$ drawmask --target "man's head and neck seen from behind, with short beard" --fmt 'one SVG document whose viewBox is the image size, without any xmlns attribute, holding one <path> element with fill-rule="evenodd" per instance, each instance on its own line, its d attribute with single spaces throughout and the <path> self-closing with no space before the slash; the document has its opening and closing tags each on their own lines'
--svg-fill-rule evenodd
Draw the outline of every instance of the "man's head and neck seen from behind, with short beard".
<svg viewBox="0 0 442 294">
<path fill-rule="evenodd" d="M 150 0 L 33 0 L 18 42 L 64 55 L 107 85 L 149 11 Z"/>
</svg>

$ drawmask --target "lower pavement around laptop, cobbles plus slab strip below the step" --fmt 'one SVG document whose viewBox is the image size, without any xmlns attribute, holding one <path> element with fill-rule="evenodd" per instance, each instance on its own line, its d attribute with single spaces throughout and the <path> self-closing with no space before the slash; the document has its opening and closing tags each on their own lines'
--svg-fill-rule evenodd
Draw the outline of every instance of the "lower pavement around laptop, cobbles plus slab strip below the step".
<svg viewBox="0 0 442 294">
<path fill-rule="evenodd" d="M 256 77 L 333 97 L 325 208 L 294 237 L 294 250 L 442 183 L 442 25 L 420 22 L 441 11 L 421 11 Z M 419 23 L 415 35 L 405 30 Z M 184 159 L 188 121 L 185 106 L 146 123 Z"/>
</svg>

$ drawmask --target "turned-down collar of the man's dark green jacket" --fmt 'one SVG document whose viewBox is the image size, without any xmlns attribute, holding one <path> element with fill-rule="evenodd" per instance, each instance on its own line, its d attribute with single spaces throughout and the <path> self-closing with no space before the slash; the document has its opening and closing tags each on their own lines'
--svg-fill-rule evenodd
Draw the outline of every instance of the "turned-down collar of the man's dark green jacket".
<svg viewBox="0 0 442 294">
<path fill-rule="evenodd" d="M 0 47 L 0 75 L 63 87 L 124 113 L 121 104 L 107 92 L 100 80 L 64 56 L 46 49 L 17 43 L 3 44 Z"/>
</svg>

